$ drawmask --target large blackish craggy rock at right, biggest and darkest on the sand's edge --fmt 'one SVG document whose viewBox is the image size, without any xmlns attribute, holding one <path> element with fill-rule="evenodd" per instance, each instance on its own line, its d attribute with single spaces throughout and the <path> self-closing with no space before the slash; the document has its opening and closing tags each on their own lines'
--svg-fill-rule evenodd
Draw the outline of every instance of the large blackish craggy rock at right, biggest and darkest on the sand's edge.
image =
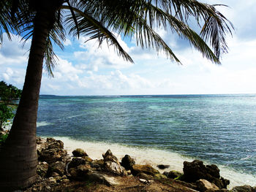
<svg viewBox="0 0 256 192">
<path fill-rule="evenodd" d="M 208 180 L 214 183 L 218 188 L 227 188 L 229 180 L 219 176 L 219 169 L 216 165 L 205 166 L 203 161 L 195 160 L 192 162 L 184 161 L 184 177 L 182 180 L 195 183 L 197 180 Z"/>
</svg>

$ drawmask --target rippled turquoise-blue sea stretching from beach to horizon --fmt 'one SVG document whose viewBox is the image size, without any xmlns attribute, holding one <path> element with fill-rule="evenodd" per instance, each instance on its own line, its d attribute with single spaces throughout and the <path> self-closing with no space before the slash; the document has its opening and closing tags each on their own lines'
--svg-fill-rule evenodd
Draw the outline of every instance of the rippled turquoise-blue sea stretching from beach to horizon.
<svg viewBox="0 0 256 192">
<path fill-rule="evenodd" d="M 37 134 L 171 151 L 256 172 L 256 95 L 40 96 Z"/>
</svg>

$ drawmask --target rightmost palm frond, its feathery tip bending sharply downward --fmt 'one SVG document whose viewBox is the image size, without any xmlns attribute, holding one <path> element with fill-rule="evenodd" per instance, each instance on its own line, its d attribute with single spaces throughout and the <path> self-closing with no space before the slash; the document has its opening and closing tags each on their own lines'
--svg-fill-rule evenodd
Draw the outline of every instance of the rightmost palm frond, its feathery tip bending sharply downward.
<svg viewBox="0 0 256 192">
<path fill-rule="evenodd" d="M 165 12 L 172 14 L 181 22 L 187 23 L 189 18 L 195 18 L 200 26 L 203 22 L 203 28 L 200 35 L 206 42 L 210 42 L 214 53 L 219 59 L 223 53 L 227 53 L 227 43 L 225 37 L 227 34 L 232 35 L 234 29 L 230 20 L 217 11 L 215 7 L 225 6 L 223 4 L 204 4 L 196 0 L 173 0 L 160 1 L 156 0 L 160 7 L 165 7 Z M 227 7 L 227 6 L 225 6 Z"/>
</svg>

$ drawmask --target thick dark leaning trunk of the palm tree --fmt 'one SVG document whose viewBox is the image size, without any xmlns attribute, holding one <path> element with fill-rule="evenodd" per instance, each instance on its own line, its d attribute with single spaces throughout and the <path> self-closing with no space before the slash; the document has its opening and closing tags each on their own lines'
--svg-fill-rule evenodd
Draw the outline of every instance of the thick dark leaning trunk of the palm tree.
<svg viewBox="0 0 256 192">
<path fill-rule="evenodd" d="M 36 129 L 42 64 L 53 14 L 39 11 L 34 20 L 33 38 L 23 92 L 7 142 L 0 151 L 0 191 L 26 188 L 37 177 Z"/>
</svg>

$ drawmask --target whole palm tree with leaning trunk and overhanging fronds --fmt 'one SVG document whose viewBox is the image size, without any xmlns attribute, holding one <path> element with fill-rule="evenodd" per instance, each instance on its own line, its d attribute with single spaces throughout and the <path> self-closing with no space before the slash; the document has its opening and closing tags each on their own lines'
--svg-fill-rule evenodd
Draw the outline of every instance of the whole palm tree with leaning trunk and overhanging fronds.
<svg viewBox="0 0 256 192">
<path fill-rule="evenodd" d="M 204 57 L 220 64 L 227 53 L 225 37 L 232 24 L 217 11 L 217 5 L 196 0 L 2 0 L 0 37 L 15 31 L 31 40 L 29 61 L 20 104 L 10 135 L 0 153 L 0 188 L 26 188 L 36 180 L 36 128 L 39 89 L 43 61 L 52 74 L 55 64 L 52 41 L 63 48 L 65 31 L 70 35 L 107 41 L 118 55 L 133 62 L 113 35 L 135 37 L 141 47 L 162 51 L 167 58 L 180 63 L 173 51 L 154 28 L 162 26 L 187 39 Z M 197 34 L 189 27 L 195 18 L 201 27 Z M 206 44 L 208 42 L 209 46 Z"/>
</svg>

